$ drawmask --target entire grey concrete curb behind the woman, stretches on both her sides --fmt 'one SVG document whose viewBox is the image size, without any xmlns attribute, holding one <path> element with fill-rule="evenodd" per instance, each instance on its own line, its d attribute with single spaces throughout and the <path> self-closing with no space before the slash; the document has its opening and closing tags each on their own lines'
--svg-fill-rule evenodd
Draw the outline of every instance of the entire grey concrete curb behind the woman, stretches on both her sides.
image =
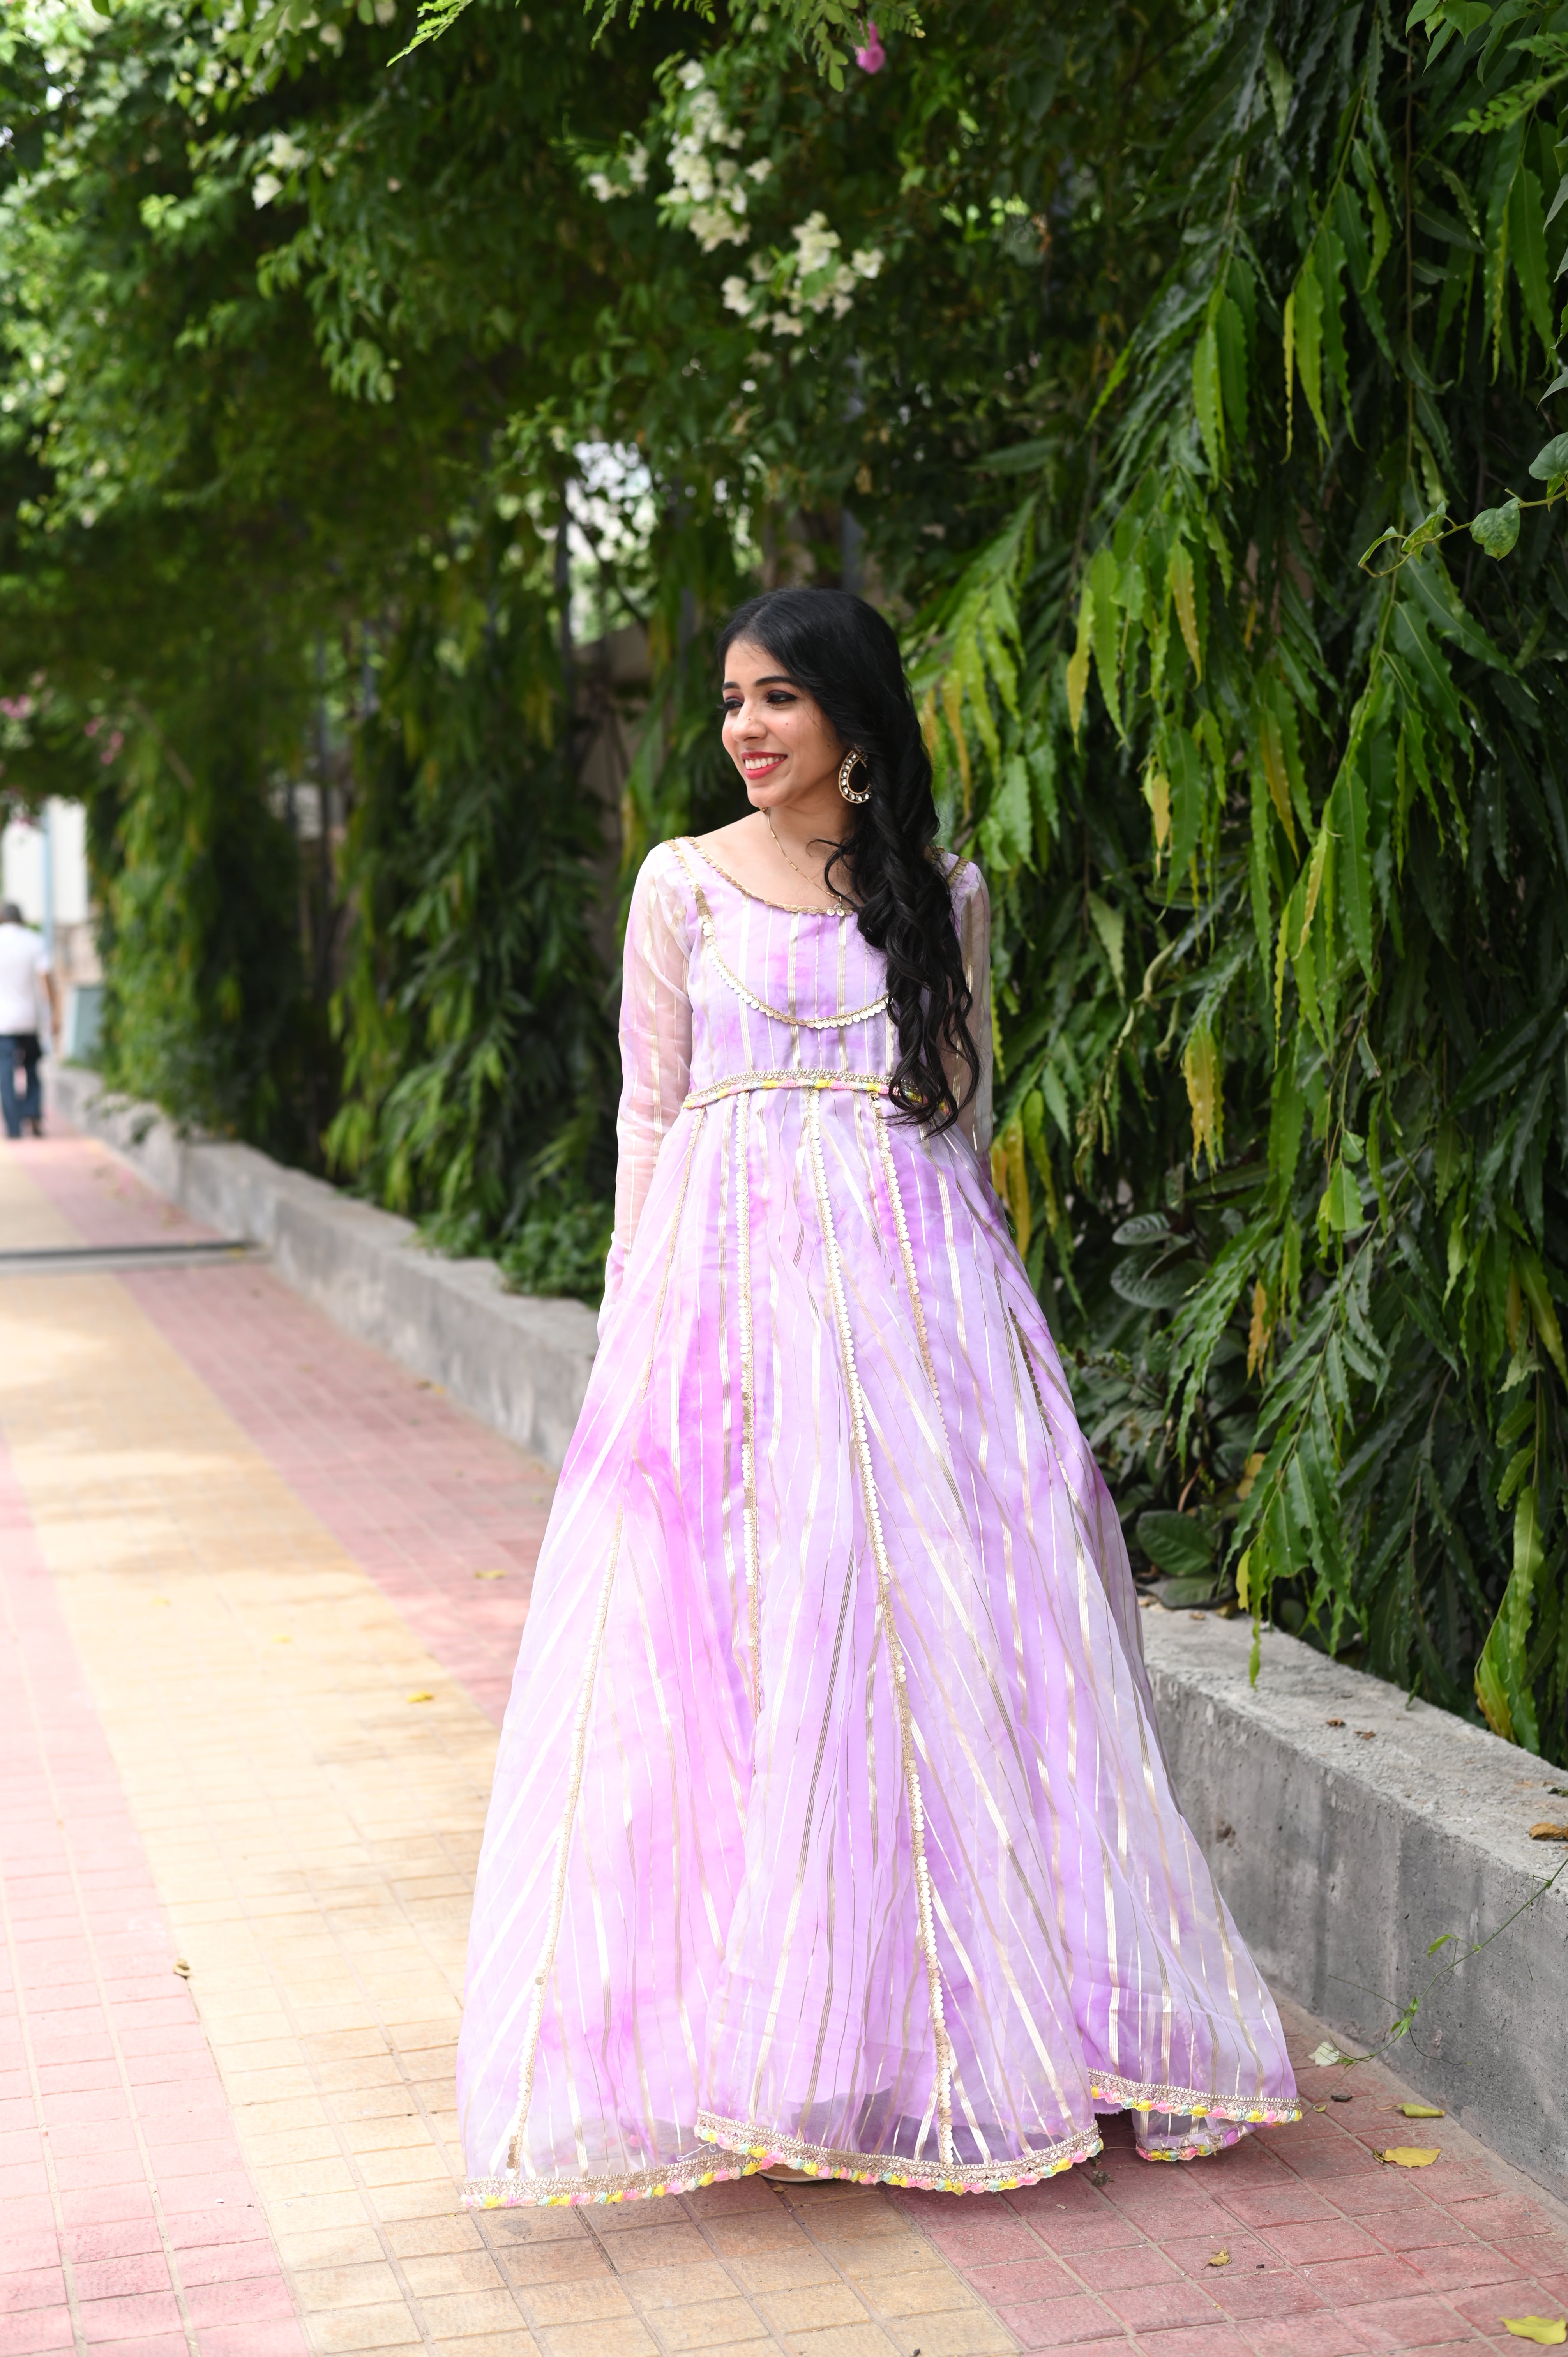
<svg viewBox="0 0 1568 2357">
<path fill-rule="evenodd" d="M 54 1098 L 193 1219 L 266 1244 L 349 1334 L 561 1464 L 594 1360 L 580 1303 L 505 1294 L 490 1261 L 424 1254 L 406 1219 L 248 1146 L 179 1138 L 92 1072 L 57 1070 Z M 1379 2044 L 1450 1956 L 1514 1916 L 1422 1996 L 1389 2060 L 1568 2197 L 1568 1874 L 1528 1904 L 1568 1855 L 1528 1838 L 1542 1817 L 1568 1822 L 1554 1770 L 1285 1633 L 1264 1636 L 1252 1688 L 1247 1622 L 1148 1610 L 1141 1626 L 1177 1791 L 1219 1888 L 1273 1987 L 1346 2051 Z M 1457 1937 L 1429 1954 L 1445 1933 Z"/>
</svg>

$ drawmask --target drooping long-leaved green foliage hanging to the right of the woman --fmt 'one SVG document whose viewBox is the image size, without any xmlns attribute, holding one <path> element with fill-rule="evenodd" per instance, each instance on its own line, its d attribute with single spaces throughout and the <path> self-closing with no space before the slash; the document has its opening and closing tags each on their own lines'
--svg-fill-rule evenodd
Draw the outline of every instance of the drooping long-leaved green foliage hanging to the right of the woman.
<svg viewBox="0 0 1568 2357">
<path fill-rule="evenodd" d="M 1089 514 L 955 585 L 929 721 L 960 825 L 1035 811 L 997 1164 L 1125 1506 L 1179 1487 L 1254 1615 L 1561 1761 L 1559 35 L 1427 21 L 1214 24 Z M 1455 561 L 1460 486 L 1507 495 Z"/>
</svg>

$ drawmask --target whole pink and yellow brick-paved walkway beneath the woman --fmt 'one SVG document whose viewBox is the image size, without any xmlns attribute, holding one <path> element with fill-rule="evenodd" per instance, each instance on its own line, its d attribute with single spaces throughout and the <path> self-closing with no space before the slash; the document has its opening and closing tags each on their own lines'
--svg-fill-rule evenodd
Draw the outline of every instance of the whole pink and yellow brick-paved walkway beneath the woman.
<svg viewBox="0 0 1568 2357">
<path fill-rule="evenodd" d="M 0 1244 L 186 1233 L 97 1146 L 0 1155 Z M 1568 2312 L 1568 2216 L 1386 2074 L 1313 2072 L 1299 2015 L 1320 2110 L 1193 2168 L 1118 2124 L 1099 2183 L 1007 2199 L 462 2213 L 467 1902 L 547 1504 L 264 1266 L 0 1275 L 0 2357 L 1351 2357 Z M 1441 2161 L 1375 2159 L 1412 2140 Z"/>
</svg>

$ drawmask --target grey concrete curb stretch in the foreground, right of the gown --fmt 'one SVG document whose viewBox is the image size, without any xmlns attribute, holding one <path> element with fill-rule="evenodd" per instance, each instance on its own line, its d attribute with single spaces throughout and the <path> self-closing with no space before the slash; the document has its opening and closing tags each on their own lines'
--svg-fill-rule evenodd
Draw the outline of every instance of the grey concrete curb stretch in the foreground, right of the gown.
<svg viewBox="0 0 1568 2357">
<path fill-rule="evenodd" d="M 1568 1822 L 1563 1770 L 1313 1652 L 1214 1615 L 1144 1612 L 1148 1673 L 1181 1808 L 1269 1980 L 1389 2065 L 1493 2152 L 1568 2192 Z M 1332 1725 L 1342 1721 L 1342 1725 Z M 1434 1940 L 1455 1937 L 1429 1954 Z M 1441 2143 L 1441 2128 L 1410 2131 Z"/>
</svg>

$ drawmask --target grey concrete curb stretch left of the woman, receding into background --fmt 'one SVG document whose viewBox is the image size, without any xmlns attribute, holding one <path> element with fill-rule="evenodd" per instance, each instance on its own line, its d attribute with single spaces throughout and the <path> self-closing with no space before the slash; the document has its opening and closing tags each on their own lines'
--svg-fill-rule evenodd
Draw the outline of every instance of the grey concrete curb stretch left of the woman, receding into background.
<svg viewBox="0 0 1568 2357">
<path fill-rule="evenodd" d="M 182 1138 L 151 1105 L 104 1091 L 97 1072 L 54 1065 L 66 1122 L 125 1155 L 141 1176 L 219 1235 L 264 1244 L 297 1294 L 358 1341 L 472 1409 L 507 1440 L 559 1466 L 599 1343 L 580 1301 L 502 1292 L 493 1261 L 422 1252 L 410 1221 L 283 1169 L 252 1146 Z"/>
</svg>

